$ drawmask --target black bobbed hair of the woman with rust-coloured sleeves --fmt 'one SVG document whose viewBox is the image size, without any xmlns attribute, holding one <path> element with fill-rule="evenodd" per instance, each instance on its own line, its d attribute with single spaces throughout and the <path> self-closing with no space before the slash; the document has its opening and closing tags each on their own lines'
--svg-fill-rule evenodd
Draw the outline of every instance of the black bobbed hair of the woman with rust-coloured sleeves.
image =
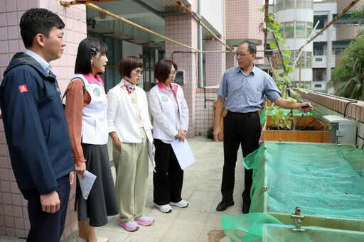
<svg viewBox="0 0 364 242">
<path fill-rule="evenodd" d="M 91 56 L 101 53 L 107 55 L 107 45 L 95 38 L 85 38 L 78 45 L 75 73 L 89 74 L 92 72 Z"/>
</svg>

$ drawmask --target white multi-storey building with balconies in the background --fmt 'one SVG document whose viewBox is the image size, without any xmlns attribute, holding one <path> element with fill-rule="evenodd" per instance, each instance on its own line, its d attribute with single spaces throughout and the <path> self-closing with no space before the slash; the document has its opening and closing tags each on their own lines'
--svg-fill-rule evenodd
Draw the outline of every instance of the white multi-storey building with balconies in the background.
<svg viewBox="0 0 364 242">
<path fill-rule="evenodd" d="M 275 18 L 283 24 L 282 36 L 295 60 L 312 31 L 311 37 L 321 31 L 338 13 L 343 11 L 351 1 L 336 0 L 274 0 L 270 2 L 270 11 L 276 13 Z M 350 11 L 359 9 L 364 1 L 360 0 Z M 332 94 L 334 87 L 328 84 L 331 80 L 331 71 L 339 65 L 343 50 L 348 48 L 350 41 L 360 26 L 360 19 L 350 19 L 350 11 L 339 18 L 333 26 L 329 27 L 306 45 L 301 55 L 301 87 L 318 92 Z M 317 26 L 316 26 L 317 24 Z M 314 30 L 314 27 L 316 29 Z M 272 35 L 268 41 L 272 41 Z M 328 51 L 330 50 L 330 51 Z M 270 65 L 264 60 L 263 69 L 269 70 Z M 293 87 L 299 86 L 299 65 L 292 73 Z"/>
</svg>

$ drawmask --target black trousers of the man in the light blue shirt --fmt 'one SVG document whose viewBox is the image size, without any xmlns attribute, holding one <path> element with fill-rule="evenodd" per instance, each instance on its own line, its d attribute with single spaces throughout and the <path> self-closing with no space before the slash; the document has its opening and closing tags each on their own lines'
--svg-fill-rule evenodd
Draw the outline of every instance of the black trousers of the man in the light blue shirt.
<svg viewBox="0 0 364 242">
<path fill-rule="evenodd" d="M 224 120 L 224 168 L 221 194 L 223 201 L 233 201 L 235 183 L 235 165 L 237 150 L 242 146 L 242 155 L 245 157 L 259 148 L 259 137 L 262 128 L 259 114 L 234 113 L 228 111 Z M 239 160 L 241 163 L 241 160 Z M 253 170 L 245 168 L 245 189 L 242 192 L 242 201 L 250 206 L 250 188 L 252 187 Z"/>
</svg>

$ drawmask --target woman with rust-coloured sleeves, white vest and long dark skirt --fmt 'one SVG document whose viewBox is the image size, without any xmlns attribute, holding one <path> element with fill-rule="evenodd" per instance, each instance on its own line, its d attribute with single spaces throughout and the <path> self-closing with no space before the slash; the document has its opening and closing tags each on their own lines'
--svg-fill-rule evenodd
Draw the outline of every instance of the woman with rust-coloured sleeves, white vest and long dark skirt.
<svg viewBox="0 0 364 242">
<path fill-rule="evenodd" d="M 77 241 L 108 241 L 97 238 L 95 227 L 107 224 L 107 216 L 119 214 L 107 152 L 107 98 L 104 83 L 97 75 L 105 72 L 107 45 L 95 38 L 81 41 L 77 50 L 75 77 L 65 92 L 75 171 L 85 177 L 96 175 L 87 199 L 82 197 L 77 177 L 75 209 L 78 215 Z"/>
</svg>

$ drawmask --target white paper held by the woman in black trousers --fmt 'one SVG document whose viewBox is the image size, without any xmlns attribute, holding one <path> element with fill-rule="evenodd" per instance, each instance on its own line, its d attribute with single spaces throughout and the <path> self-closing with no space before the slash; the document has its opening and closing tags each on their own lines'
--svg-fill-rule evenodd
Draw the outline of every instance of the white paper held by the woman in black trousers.
<svg viewBox="0 0 364 242">
<path fill-rule="evenodd" d="M 171 145 L 182 170 L 196 162 L 186 139 L 185 141 L 172 141 Z"/>
</svg>

